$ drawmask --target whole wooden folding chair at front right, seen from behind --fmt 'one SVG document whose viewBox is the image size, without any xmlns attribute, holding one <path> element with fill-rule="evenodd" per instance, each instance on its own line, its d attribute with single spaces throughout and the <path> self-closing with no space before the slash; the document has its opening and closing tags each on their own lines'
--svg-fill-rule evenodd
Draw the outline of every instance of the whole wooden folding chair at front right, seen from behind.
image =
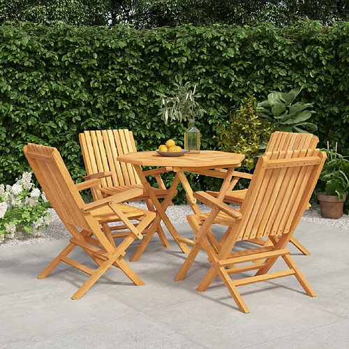
<svg viewBox="0 0 349 349">
<path fill-rule="evenodd" d="M 224 193 L 218 198 L 203 191 L 194 193 L 195 198 L 211 206 L 212 210 L 209 214 L 187 216 L 195 232 L 195 245 L 174 280 L 184 279 L 200 248 L 204 248 L 211 268 L 198 290 L 207 290 L 216 276 L 219 276 L 244 313 L 248 313 L 248 308 L 237 291 L 239 285 L 295 275 L 306 294 L 315 297 L 315 292 L 285 246 L 308 206 L 325 158 L 326 154 L 319 149 L 267 152 L 258 159 L 240 210 L 223 202 Z M 212 224 L 228 227 L 221 239 L 218 253 L 207 239 Z M 272 246 L 232 252 L 236 242 L 261 237 L 269 237 Z M 283 258 L 289 269 L 268 273 L 279 257 Z M 237 266 L 246 262 L 252 263 Z M 256 269 L 258 272 L 255 276 L 235 281 L 230 279 L 230 274 Z"/>
</svg>

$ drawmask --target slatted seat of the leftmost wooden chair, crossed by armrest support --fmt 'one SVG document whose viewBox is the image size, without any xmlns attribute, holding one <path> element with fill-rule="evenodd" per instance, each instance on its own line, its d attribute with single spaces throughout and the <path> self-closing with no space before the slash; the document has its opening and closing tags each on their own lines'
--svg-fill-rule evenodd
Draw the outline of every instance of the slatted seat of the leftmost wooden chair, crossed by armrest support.
<svg viewBox="0 0 349 349">
<path fill-rule="evenodd" d="M 122 211 L 122 213 L 128 219 L 135 219 L 141 216 L 147 216 L 149 211 L 145 209 L 140 209 L 131 205 L 117 204 L 117 208 Z M 98 221 L 120 221 L 119 216 L 114 213 L 114 211 L 109 206 L 100 206 L 95 209 L 91 209 L 92 216 Z"/>
</svg>

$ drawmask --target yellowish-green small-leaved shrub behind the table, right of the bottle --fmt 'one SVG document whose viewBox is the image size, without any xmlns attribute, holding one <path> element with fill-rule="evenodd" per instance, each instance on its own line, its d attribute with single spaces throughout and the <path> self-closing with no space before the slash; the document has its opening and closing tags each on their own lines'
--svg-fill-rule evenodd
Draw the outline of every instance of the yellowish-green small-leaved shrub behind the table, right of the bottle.
<svg viewBox="0 0 349 349">
<path fill-rule="evenodd" d="M 258 116 L 254 97 L 245 98 L 230 120 L 218 131 L 218 147 L 245 154 L 243 167 L 252 170 L 267 146 L 274 125 Z"/>
</svg>

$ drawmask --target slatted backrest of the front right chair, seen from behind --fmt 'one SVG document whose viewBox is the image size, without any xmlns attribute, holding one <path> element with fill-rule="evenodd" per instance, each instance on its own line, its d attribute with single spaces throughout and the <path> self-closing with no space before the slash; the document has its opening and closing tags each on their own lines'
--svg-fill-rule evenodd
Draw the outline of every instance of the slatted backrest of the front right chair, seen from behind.
<svg viewBox="0 0 349 349">
<path fill-rule="evenodd" d="M 237 227 L 238 240 L 293 232 L 325 162 L 319 149 L 267 152 L 260 156 Z"/>
</svg>

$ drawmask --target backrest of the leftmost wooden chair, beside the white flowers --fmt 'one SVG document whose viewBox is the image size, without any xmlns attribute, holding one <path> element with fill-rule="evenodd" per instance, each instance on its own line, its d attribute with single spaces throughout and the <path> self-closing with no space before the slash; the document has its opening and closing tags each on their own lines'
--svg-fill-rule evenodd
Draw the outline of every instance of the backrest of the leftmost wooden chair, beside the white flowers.
<svg viewBox="0 0 349 349">
<path fill-rule="evenodd" d="M 50 201 L 61 221 L 90 230 L 90 225 L 82 214 L 84 201 L 59 151 L 56 148 L 38 144 L 28 144 L 23 151 L 47 200 Z"/>
</svg>

